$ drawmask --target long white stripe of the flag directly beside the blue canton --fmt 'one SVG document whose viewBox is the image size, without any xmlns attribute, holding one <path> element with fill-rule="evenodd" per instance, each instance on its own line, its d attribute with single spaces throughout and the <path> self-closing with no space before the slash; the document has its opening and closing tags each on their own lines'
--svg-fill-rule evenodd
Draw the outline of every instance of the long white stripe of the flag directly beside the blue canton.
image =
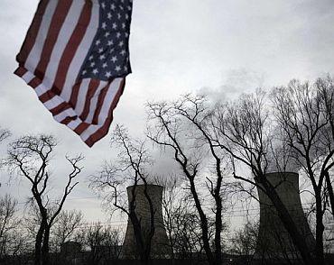
<svg viewBox="0 0 334 265">
<path fill-rule="evenodd" d="M 88 50 L 90 49 L 90 46 L 94 41 L 95 35 L 97 34 L 98 20 L 99 20 L 99 6 L 97 4 L 93 4 L 92 14 L 90 17 L 90 22 L 88 24 L 87 31 L 82 41 L 79 44 L 79 47 L 76 51 L 74 58 L 70 62 L 70 67 L 68 69 L 65 84 L 61 90 L 60 96 L 65 101 L 70 101 L 72 87 L 75 85 L 75 81 L 79 75 L 79 70 L 81 69 L 81 66 L 84 63 L 84 60 L 86 59 L 88 54 Z"/>
</svg>

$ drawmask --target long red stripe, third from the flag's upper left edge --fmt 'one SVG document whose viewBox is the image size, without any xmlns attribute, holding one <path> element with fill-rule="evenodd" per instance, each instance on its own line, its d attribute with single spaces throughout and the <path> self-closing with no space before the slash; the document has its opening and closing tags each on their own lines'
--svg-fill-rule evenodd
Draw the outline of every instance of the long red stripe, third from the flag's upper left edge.
<svg viewBox="0 0 334 265">
<path fill-rule="evenodd" d="M 67 43 L 66 48 L 61 56 L 60 59 L 60 65 L 57 70 L 57 75 L 56 79 L 53 84 L 52 90 L 58 95 L 60 95 L 60 92 L 65 84 L 65 80 L 68 74 L 68 69 L 70 68 L 70 62 L 74 58 L 79 44 L 82 41 L 83 37 L 85 36 L 85 33 L 87 32 L 88 29 L 88 24 L 90 22 L 90 17 L 91 17 L 91 11 L 92 11 L 92 2 L 91 1 L 86 1 L 80 17 L 78 24 L 76 28 L 74 29 L 72 35 L 70 36 L 70 41 Z M 73 95 L 73 99 L 71 96 L 70 102 L 75 102 L 76 103 L 76 96 Z M 73 105 L 75 107 L 75 105 Z"/>
</svg>

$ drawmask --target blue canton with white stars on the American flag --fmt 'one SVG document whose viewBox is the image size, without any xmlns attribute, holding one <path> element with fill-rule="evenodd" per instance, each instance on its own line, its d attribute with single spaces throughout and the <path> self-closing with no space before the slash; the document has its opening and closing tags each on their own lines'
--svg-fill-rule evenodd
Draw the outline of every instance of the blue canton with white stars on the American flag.
<svg viewBox="0 0 334 265">
<path fill-rule="evenodd" d="M 97 36 L 83 65 L 81 78 L 124 77 L 131 73 L 129 32 L 132 0 L 100 0 Z"/>
</svg>

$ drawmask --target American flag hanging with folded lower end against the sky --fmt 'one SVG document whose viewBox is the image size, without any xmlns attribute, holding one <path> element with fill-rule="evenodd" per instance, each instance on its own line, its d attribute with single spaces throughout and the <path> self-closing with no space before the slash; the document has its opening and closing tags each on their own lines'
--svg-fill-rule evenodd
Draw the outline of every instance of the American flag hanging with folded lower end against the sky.
<svg viewBox="0 0 334 265">
<path fill-rule="evenodd" d="M 132 0 L 41 0 L 15 74 L 91 147 L 104 137 L 131 72 Z"/>
</svg>

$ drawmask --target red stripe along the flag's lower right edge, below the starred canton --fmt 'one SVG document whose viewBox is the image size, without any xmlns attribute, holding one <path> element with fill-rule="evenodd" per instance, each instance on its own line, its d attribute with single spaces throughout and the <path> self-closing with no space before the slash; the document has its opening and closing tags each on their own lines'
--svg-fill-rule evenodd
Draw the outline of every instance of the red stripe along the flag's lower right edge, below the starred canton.
<svg viewBox="0 0 334 265">
<path fill-rule="evenodd" d="M 102 137 L 106 136 L 106 134 L 109 132 L 109 126 L 114 119 L 114 116 L 113 116 L 114 109 L 116 108 L 116 105 L 119 101 L 119 98 L 123 94 L 124 87 L 125 87 L 125 78 L 122 80 L 121 85 L 120 85 L 120 87 L 119 87 L 119 89 L 116 93 L 116 96 L 113 100 L 113 103 L 110 106 L 109 114 L 108 114 L 106 122 L 103 124 L 103 126 L 101 128 L 99 128 L 97 130 L 96 133 L 93 133 L 92 135 L 90 135 L 89 138 L 85 141 L 89 147 L 92 147 L 95 142 L 100 140 Z"/>
</svg>

